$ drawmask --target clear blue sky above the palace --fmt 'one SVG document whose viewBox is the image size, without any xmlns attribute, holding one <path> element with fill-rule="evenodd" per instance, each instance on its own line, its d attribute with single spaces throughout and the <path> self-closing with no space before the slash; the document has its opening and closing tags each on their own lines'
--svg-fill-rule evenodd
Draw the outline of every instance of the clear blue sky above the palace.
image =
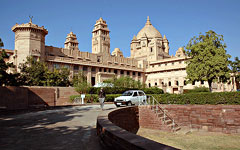
<svg viewBox="0 0 240 150">
<path fill-rule="evenodd" d="M 118 47 L 130 56 L 130 43 L 144 27 L 147 16 L 170 43 L 170 54 L 190 38 L 214 30 L 224 36 L 227 53 L 240 57 L 240 0 L 1 0 L 0 38 L 14 49 L 15 23 L 29 22 L 49 32 L 46 45 L 64 47 L 72 30 L 79 49 L 91 52 L 92 29 L 99 17 L 110 29 L 111 52 Z"/>
</svg>

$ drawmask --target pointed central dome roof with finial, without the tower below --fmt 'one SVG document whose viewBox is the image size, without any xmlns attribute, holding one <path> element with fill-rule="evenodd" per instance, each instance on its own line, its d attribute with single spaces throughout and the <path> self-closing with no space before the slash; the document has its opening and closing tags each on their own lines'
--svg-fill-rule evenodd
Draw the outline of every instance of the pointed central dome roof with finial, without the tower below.
<svg viewBox="0 0 240 150">
<path fill-rule="evenodd" d="M 137 39 L 147 36 L 148 38 L 162 38 L 161 33 L 151 24 L 149 17 L 145 26 L 138 32 Z"/>
</svg>

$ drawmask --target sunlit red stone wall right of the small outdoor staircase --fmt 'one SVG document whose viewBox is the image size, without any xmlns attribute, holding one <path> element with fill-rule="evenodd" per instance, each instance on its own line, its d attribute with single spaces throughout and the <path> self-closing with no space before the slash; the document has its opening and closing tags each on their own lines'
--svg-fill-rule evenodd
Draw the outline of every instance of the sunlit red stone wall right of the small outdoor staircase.
<svg viewBox="0 0 240 150">
<path fill-rule="evenodd" d="M 240 105 L 162 105 L 180 126 L 240 133 Z"/>
</svg>

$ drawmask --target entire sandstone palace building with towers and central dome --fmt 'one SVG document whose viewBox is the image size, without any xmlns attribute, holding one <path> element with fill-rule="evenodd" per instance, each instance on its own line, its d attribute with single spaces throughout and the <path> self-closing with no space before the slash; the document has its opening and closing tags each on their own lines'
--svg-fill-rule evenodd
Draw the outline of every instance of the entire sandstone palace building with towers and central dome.
<svg viewBox="0 0 240 150">
<path fill-rule="evenodd" d="M 45 45 L 48 30 L 32 23 L 15 24 L 15 49 L 7 50 L 10 62 L 18 66 L 28 56 L 47 63 L 48 68 L 66 67 L 70 70 L 70 78 L 82 71 L 91 85 L 106 79 L 129 76 L 145 83 L 148 87 L 157 86 L 169 93 L 182 93 L 195 86 L 206 86 L 207 82 L 186 82 L 186 55 L 183 48 L 169 55 L 169 41 L 151 24 L 149 17 L 145 26 L 133 36 L 131 56 L 124 57 L 119 48 L 110 53 L 110 35 L 107 22 L 100 18 L 92 31 L 92 53 L 78 48 L 76 34 L 70 32 L 64 48 Z M 230 91 L 232 84 L 213 84 L 214 91 Z"/>
</svg>

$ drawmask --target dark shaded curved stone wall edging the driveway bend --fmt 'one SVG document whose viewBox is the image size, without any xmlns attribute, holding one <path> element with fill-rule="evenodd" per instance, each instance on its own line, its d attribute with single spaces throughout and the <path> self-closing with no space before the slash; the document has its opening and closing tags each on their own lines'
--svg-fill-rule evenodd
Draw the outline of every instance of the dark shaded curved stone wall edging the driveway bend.
<svg viewBox="0 0 240 150">
<path fill-rule="evenodd" d="M 104 111 L 98 116 L 97 134 L 100 137 L 102 145 L 105 147 L 104 149 L 176 150 L 176 148 L 134 134 L 136 133 L 136 129 L 139 128 L 138 112 L 138 107 L 125 107 Z"/>
</svg>

